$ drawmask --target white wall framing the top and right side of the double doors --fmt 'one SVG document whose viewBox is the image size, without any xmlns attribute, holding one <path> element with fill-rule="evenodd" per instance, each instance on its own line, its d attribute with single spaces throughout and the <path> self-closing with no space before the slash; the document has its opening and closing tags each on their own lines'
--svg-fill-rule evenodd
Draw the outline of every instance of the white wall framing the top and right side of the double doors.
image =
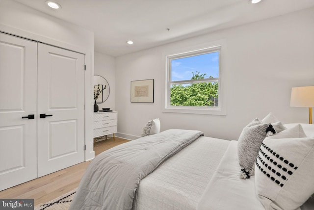
<svg viewBox="0 0 314 210">
<path fill-rule="evenodd" d="M 85 54 L 85 159 L 93 158 L 94 33 L 13 0 L 0 0 L 0 31 Z"/>
</svg>

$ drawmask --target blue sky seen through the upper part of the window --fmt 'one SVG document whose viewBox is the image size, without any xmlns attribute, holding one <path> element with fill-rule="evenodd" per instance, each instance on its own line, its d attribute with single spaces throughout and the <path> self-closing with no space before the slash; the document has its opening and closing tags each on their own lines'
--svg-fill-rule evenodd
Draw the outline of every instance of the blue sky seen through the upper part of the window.
<svg viewBox="0 0 314 210">
<path fill-rule="evenodd" d="M 171 80 L 189 80 L 196 71 L 201 74 L 219 77 L 219 52 L 174 59 L 171 61 Z"/>
</svg>

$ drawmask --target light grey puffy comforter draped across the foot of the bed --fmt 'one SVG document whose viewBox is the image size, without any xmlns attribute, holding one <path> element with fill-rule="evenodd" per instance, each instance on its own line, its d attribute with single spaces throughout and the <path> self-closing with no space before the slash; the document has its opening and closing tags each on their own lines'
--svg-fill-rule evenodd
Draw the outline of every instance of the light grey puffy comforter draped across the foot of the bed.
<svg viewBox="0 0 314 210">
<path fill-rule="evenodd" d="M 131 210 L 140 181 L 201 135 L 167 130 L 103 152 L 86 169 L 70 210 Z"/>
</svg>

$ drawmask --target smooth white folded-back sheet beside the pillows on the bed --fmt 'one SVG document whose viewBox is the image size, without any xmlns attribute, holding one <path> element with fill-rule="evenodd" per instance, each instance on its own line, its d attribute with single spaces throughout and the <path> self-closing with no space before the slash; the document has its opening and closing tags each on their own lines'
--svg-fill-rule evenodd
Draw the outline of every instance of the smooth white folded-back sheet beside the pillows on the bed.
<svg viewBox="0 0 314 210">
<path fill-rule="evenodd" d="M 198 210 L 265 210 L 255 193 L 254 176 L 239 179 L 237 141 L 231 141 L 199 202 Z"/>
</svg>

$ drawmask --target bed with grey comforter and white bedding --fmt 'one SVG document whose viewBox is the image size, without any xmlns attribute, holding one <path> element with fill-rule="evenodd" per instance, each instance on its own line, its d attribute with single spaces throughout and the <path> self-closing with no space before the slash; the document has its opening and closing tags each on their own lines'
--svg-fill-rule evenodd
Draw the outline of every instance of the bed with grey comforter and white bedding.
<svg viewBox="0 0 314 210">
<path fill-rule="evenodd" d="M 296 125 L 299 124 L 285 124 L 285 130 L 295 130 Z M 314 125 L 302 124 L 302 128 L 307 138 L 314 142 Z M 284 134 L 283 136 L 287 137 Z M 270 139 L 271 142 L 273 141 Z M 276 201 L 280 195 L 277 194 L 274 199 L 271 196 L 265 198 L 265 190 L 277 192 L 279 186 L 275 184 L 263 189 L 263 185 L 267 184 L 262 181 L 262 186 L 259 186 L 261 184 L 256 178 L 260 180 L 263 176 L 258 163 L 254 166 L 255 176 L 249 179 L 239 178 L 241 167 L 238 147 L 238 141 L 206 137 L 201 131 L 188 130 L 167 130 L 119 145 L 91 162 L 70 209 L 281 209 L 283 201 Z M 312 158 L 311 154 L 314 152 L 309 151 Z M 311 158 L 310 162 L 314 160 Z M 299 168 L 296 171 L 303 170 L 302 165 Z M 314 172 L 313 164 L 310 168 L 307 166 L 307 170 Z M 306 193 L 299 192 L 298 189 L 294 191 L 297 195 L 293 195 L 293 198 L 297 199 L 289 204 L 289 208 L 293 210 L 314 209 L 314 199 L 310 197 L 314 193 L 314 177 L 305 175 L 303 179 L 308 186 L 301 184 L 301 188 L 306 188 L 301 191 Z M 293 177 L 289 180 L 293 181 Z M 269 182 L 269 179 L 265 182 Z M 289 186 L 289 183 L 286 182 L 285 185 Z M 262 189 L 257 189 L 257 186 Z M 282 188 L 279 189 L 279 194 L 283 191 Z M 310 192 L 312 193 L 309 194 Z M 286 199 L 291 200 L 289 197 Z M 299 206 L 298 202 L 301 202 Z M 294 208 L 294 205 L 297 207 Z"/>
</svg>

